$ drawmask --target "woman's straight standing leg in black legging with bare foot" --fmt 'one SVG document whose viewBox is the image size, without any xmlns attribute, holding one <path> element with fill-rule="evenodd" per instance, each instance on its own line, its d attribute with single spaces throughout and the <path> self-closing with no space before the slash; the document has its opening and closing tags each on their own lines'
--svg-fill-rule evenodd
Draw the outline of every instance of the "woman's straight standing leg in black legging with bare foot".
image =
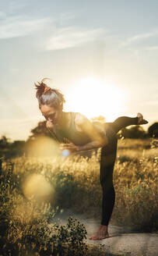
<svg viewBox="0 0 158 256">
<path fill-rule="evenodd" d="M 118 140 L 113 130 L 107 128 L 106 132 L 109 143 L 101 149 L 100 158 L 100 184 L 103 190 L 102 219 L 100 228 L 94 236 L 90 237 L 91 240 L 104 239 L 109 236 L 107 226 L 111 219 L 115 201 L 113 170 Z"/>
</svg>

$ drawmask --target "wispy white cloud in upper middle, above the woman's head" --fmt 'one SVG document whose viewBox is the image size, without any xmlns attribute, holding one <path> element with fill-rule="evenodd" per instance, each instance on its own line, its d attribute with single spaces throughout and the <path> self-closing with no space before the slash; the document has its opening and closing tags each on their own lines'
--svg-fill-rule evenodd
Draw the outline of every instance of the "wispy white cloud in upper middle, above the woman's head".
<svg viewBox="0 0 158 256">
<path fill-rule="evenodd" d="M 97 41 L 105 33 L 103 29 L 79 30 L 75 27 L 58 28 L 46 42 L 47 51 L 77 47 L 90 41 Z"/>
</svg>

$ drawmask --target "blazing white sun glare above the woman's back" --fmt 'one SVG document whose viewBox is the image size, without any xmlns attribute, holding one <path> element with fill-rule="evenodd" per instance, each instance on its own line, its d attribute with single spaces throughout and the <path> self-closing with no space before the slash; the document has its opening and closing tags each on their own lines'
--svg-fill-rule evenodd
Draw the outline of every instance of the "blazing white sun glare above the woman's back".
<svg viewBox="0 0 158 256">
<path fill-rule="evenodd" d="M 88 118 L 104 116 L 111 122 L 121 114 L 124 98 L 120 88 L 88 77 L 79 80 L 66 95 L 65 111 L 80 112 Z"/>
</svg>

